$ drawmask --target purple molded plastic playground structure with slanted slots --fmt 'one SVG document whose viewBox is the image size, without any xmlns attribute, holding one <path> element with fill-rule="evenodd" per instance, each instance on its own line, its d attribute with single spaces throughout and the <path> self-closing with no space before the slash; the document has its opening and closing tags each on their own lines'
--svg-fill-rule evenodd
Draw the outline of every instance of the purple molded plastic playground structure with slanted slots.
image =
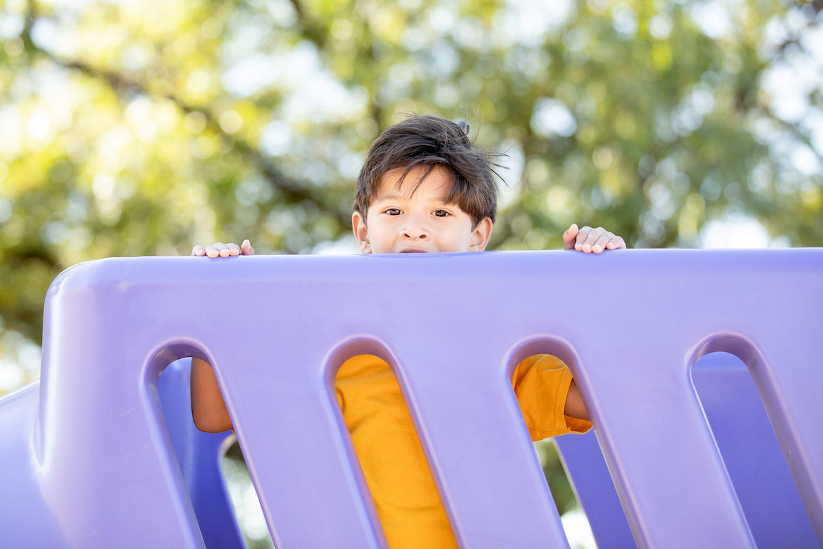
<svg viewBox="0 0 823 549">
<path fill-rule="evenodd" d="M 166 365 L 199 356 L 278 549 L 384 547 L 333 390 L 343 361 L 374 354 L 398 375 L 463 547 L 568 547 L 508 379 L 550 353 L 570 365 L 611 472 L 583 467 L 590 437 L 561 437 L 603 549 L 627 547 L 608 545 L 626 524 L 638 547 L 756 547 L 760 495 L 739 479 L 735 492 L 729 475 L 748 469 L 727 473 L 718 444 L 745 459 L 715 442 L 706 416 L 723 406 L 701 407 L 700 372 L 692 383 L 714 351 L 748 367 L 820 542 L 821 275 L 816 249 L 83 263 L 49 291 L 39 388 L 0 399 L 0 545 L 212 546 L 225 486 L 204 484 L 219 474 L 192 456 L 216 456 L 225 436 L 188 437 L 181 385 L 160 387 L 165 419 L 158 391 Z M 218 533 L 239 540 L 232 520 Z"/>
</svg>

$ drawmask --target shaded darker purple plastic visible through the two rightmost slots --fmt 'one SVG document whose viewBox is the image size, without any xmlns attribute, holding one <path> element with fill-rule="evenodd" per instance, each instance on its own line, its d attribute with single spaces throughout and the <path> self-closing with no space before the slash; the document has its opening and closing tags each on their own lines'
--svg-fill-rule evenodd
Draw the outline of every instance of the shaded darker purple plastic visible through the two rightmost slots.
<svg viewBox="0 0 823 549">
<path fill-rule="evenodd" d="M 821 547 L 746 365 L 711 353 L 692 379 L 758 549 Z M 635 549 L 594 432 L 555 441 L 598 549 Z"/>
</svg>

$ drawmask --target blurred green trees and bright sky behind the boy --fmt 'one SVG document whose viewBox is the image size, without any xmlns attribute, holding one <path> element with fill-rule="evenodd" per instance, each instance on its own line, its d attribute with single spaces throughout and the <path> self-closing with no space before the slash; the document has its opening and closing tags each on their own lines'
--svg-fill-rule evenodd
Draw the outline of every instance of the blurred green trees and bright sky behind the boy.
<svg viewBox="0 0 823 549">
<path fill-rule="evenodd" d="M 509 155 L 491 249 L 572 222 L 638 248 L 821 245 L 821 8 L 0 0 L 0 393 L 39 375 L 74 263 L 355 252 L 365 151 L 408 112 Z"/>
</svg>

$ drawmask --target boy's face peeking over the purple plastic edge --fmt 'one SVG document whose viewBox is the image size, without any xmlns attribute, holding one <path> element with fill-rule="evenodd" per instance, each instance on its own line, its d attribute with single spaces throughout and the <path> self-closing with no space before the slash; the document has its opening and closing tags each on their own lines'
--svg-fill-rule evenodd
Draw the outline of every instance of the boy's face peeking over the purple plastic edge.
<svg viewBox="0 0 823 549">
<path fill-rule="evenodd" d="M 410 171 L 397 187 L 403 169 L 392 170 L 380 181 L 377 198 L 367 212 L 369 221 L 355 212 L 351 216 L 357 243 L 364 254 L 408 252 L 479 252 L 491 237 L 491 219 L 472 229 L 472 217 L 457 204 L 447 204 L 451 174 L 435 168 L 410 195 L 425 174 L 425 166 Z"/>
</svg>

